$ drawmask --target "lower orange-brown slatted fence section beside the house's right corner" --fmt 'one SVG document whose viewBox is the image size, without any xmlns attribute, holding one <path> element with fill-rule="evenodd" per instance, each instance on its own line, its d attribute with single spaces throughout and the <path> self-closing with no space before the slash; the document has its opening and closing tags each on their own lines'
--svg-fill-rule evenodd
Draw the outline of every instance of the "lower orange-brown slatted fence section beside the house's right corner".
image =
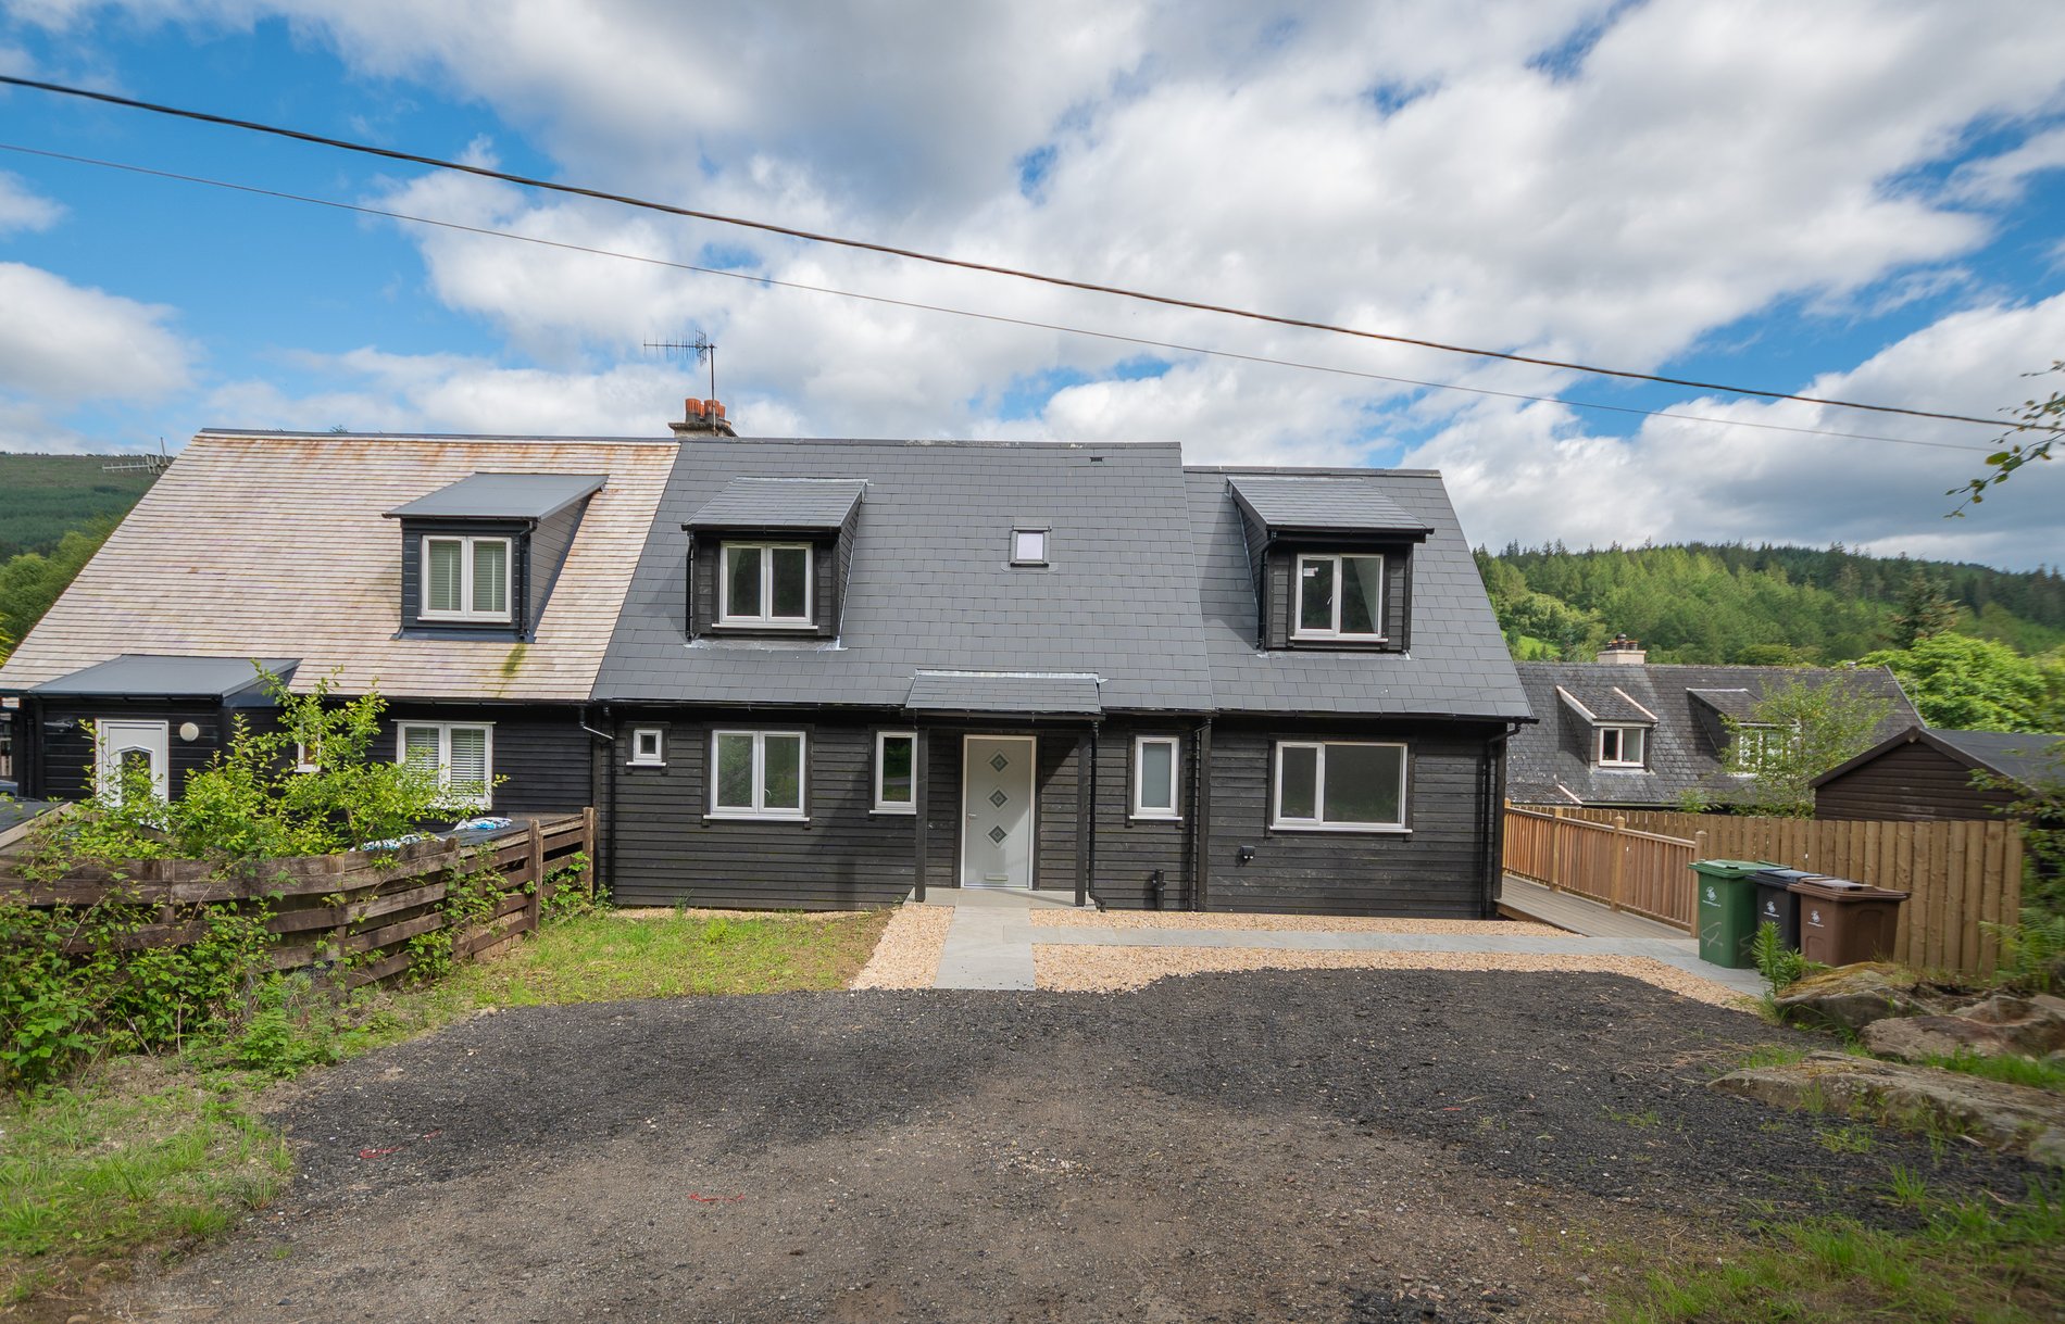
<svg viewBox="0 0 2065 1324">
<path fill-rule="evenodd" d="M 1697 846 L 1561 813 L 1505 810 L 1505 872 L 1691 932 Z"/>
</svg>

